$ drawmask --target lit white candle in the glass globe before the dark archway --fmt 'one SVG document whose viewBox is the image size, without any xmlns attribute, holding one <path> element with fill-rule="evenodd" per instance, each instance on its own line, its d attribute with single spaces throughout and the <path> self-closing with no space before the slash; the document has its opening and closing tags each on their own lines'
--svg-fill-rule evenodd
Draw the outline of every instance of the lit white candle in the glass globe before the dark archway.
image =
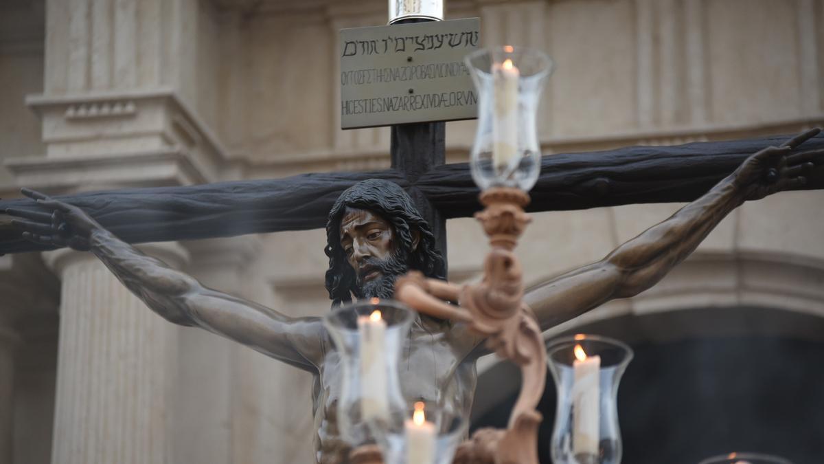
<svg viewBox="0 0 824 464">
<path fill-rule="evenodd" d="M 581 345 L 574 348 L 573 453 L 598 455 L 600 356 L 587 356 Z"/>
</svg>

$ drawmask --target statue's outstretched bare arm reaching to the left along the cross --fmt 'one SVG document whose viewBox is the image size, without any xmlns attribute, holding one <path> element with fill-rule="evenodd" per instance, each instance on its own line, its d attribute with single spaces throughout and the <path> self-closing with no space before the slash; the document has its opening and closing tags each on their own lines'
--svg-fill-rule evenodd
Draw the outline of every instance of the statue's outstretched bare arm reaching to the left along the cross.
<svg viewBox="0 0 824 464">
<path fill-rule="evenodd" d="M 30 190 L 44 211 L 10 210 L 27 239 L 68 245 L 94 253 L 149 308 L 166 320 L 196 325 L 243 343 L 270 357 L 307 371 L 322 358 L 324 330 L 318 318 L 292 319 L 265 306 L 202 286 L 183 272 L 168 268 L 117 239 L 76 206 Z"/>
</svg>

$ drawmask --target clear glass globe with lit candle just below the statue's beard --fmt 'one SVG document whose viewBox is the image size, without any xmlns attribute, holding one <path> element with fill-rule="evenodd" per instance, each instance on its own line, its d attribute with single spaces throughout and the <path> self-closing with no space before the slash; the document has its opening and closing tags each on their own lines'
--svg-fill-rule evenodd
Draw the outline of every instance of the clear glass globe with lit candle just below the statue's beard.
<svg viewBox="0 0 824 464">
<path fill-rule="evenodd" d="M 370 424 L 406 413 L 398 362 L 414 313 L 400 302 L 358 301 L 324 317 L 343 365 L 340 435 L 352 447 L 374 443 Z"/>
</svg>

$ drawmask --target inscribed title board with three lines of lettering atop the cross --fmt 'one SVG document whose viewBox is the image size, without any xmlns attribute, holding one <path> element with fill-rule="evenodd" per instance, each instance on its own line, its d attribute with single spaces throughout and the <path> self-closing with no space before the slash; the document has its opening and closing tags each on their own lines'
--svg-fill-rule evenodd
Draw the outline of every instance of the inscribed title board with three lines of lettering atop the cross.
<svg viewBox="0 0 824 464">
<path fill-rule="evenodd" d="M 477 117 L 478 18 L 340 31 L 340 128 Z"/>
</svg>

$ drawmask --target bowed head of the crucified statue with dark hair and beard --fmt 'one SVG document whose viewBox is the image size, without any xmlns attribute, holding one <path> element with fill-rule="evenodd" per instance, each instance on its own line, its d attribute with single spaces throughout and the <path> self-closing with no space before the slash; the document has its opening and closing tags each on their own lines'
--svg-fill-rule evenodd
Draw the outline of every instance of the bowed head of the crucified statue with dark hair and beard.
<svg viewBox="0 0 824 464">
<path fill-rule="evenodd" d="M 410 269 L 445 278 L 435 237 L 412 199 L 394 182 L 369 179 L 343 192 L 326 223 L 326 290 L 333 305 L 357 298 L 391 298 Z"/>
</svg>

